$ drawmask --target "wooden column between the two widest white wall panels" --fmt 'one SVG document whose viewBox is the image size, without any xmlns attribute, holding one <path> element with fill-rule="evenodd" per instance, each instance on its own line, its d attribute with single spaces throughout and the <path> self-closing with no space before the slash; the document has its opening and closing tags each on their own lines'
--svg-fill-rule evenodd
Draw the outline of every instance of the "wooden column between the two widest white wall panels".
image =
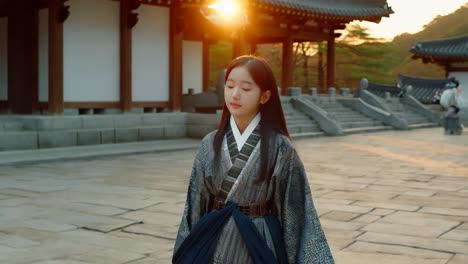
<svg viewBox="0 0 468 264">
<path fill-rule="evenodd" d="M 132 109 L 132 0 L 120 1 L 120 110 Z M 132 14 L 135 16 L 135 14 Z M 134 17 L 136 19 L 136 17 Z M 135 21 L 136 23 L 136 21 Z"/>
</svg>

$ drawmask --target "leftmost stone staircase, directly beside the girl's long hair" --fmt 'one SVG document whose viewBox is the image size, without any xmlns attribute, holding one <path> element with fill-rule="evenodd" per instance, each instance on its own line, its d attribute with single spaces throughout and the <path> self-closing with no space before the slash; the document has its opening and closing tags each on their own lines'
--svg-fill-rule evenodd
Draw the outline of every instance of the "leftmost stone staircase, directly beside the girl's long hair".
<svg viewBox="0 0 468 264">
<path fill-rule="evenodd" d="M 296 109 L 291 103 L 290 98 L 282 97 L 281 104 L 283 106 L 286 125 L 288 126 L 288 131 L 291 137 L 297 138 L 324 135 L 324 132 L 320 129 L 318 123 Z"/>
</svg>

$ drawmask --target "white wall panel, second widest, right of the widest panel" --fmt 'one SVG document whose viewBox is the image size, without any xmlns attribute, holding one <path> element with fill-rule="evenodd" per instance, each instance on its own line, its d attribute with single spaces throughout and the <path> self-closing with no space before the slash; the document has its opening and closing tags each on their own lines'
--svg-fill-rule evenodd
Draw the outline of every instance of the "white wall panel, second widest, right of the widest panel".
<svg viewBox="0 0 468 264">
<path fill-rule="evenodd" d="M 132 32 L 132 100 L 169 101 L 169 8 L 140 5 Z"/>
</svg>

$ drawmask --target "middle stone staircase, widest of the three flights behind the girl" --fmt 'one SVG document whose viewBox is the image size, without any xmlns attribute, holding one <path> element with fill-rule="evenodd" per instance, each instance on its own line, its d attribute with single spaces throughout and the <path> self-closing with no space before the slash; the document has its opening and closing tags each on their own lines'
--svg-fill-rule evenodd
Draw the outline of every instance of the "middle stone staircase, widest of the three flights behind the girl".
<svg viewBox="0 0 468 264">
<path fill-rule="evenodd" d="M 391 126 L 347 107 L 329 96 L 319 96 L 312 101 L 335 119 L 345 134 L 392 129 Z"/>
</svg>

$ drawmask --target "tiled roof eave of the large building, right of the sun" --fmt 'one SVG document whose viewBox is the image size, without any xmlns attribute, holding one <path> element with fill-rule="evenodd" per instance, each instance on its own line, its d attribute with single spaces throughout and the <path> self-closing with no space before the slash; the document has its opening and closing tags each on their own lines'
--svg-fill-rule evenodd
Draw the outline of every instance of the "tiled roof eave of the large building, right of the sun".
<svg viewBox="0 0 468 264">
<path fill-rule="evenodd" d="M 297 10 L 307 15 L 341 19 L 376 19 L 393 13 L 386 0 L 256 0 L 255 2 L 260 5 Z"/>
</svg>

